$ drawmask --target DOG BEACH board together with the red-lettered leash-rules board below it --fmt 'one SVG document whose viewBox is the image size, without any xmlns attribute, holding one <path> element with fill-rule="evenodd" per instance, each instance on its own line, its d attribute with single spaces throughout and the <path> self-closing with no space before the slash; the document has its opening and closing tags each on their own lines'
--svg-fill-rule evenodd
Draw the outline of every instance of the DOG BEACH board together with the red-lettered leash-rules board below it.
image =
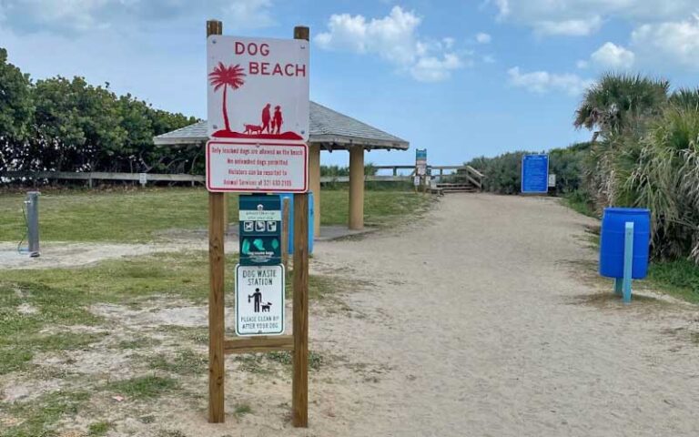
<svg viewBox="0 0 699 437">
<path fill-rule="evenodd" d="M 212 35 L 207 40 L 207 188 L 309 189 L 309 42 Z"/>
</svg>

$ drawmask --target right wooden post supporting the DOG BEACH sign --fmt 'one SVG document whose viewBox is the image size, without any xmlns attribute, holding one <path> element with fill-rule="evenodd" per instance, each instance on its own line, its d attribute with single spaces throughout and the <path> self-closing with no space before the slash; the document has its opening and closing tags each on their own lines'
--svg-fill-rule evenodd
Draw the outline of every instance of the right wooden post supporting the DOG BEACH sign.
<svg viewBox="0 0 699 437">
<path fill-rule="evenodd" d="M 308 27 L 294 27 L 294 39 L 309 41 Z M 294 374 L 291 418 L 297 428 L 309 426 L 309 195 L 294 195 Z"/>
</svg>

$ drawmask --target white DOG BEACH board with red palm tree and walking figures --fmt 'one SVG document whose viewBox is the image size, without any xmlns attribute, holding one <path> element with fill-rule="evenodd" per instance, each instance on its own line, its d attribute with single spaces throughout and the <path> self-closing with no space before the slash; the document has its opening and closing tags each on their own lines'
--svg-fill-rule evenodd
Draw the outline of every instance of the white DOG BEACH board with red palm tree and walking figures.
<svg viewBox="0 0 699 437">
<path fill-rule="evenodd" d="M 309 139 L 309 42 L 209 36 L 208 137 Z"/>
</svg>

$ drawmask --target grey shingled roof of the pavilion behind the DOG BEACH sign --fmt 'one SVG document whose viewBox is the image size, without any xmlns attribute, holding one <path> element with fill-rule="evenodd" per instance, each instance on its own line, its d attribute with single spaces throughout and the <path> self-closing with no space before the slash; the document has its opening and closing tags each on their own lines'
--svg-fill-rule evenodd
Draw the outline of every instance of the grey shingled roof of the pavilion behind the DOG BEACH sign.
<svg viewBox="0 0 699 437">
<path fill-rule="evenodd" d="M 153 138 L 157 146 L 197 144 L 207 140 L 206 120 Z M 310 102 L 309 142 L 319 143 L 328 149 L 363 147 L 406 150 L 409 147 L 408 141 L 404 139 L 392 136 L 316 102 Z"/>
</svg>

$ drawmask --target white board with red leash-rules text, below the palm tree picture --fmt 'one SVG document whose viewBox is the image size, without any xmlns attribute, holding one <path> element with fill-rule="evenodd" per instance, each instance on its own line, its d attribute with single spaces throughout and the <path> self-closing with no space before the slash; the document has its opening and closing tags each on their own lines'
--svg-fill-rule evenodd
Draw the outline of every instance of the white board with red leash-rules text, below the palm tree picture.
<svg viewBox="0 0 699 437">
<path fill-rule="evenodd" d="M 207 189 L 216 192 L 305 193 L 309 147 L 299 141 L 207 143 Z"/>
</svg>

